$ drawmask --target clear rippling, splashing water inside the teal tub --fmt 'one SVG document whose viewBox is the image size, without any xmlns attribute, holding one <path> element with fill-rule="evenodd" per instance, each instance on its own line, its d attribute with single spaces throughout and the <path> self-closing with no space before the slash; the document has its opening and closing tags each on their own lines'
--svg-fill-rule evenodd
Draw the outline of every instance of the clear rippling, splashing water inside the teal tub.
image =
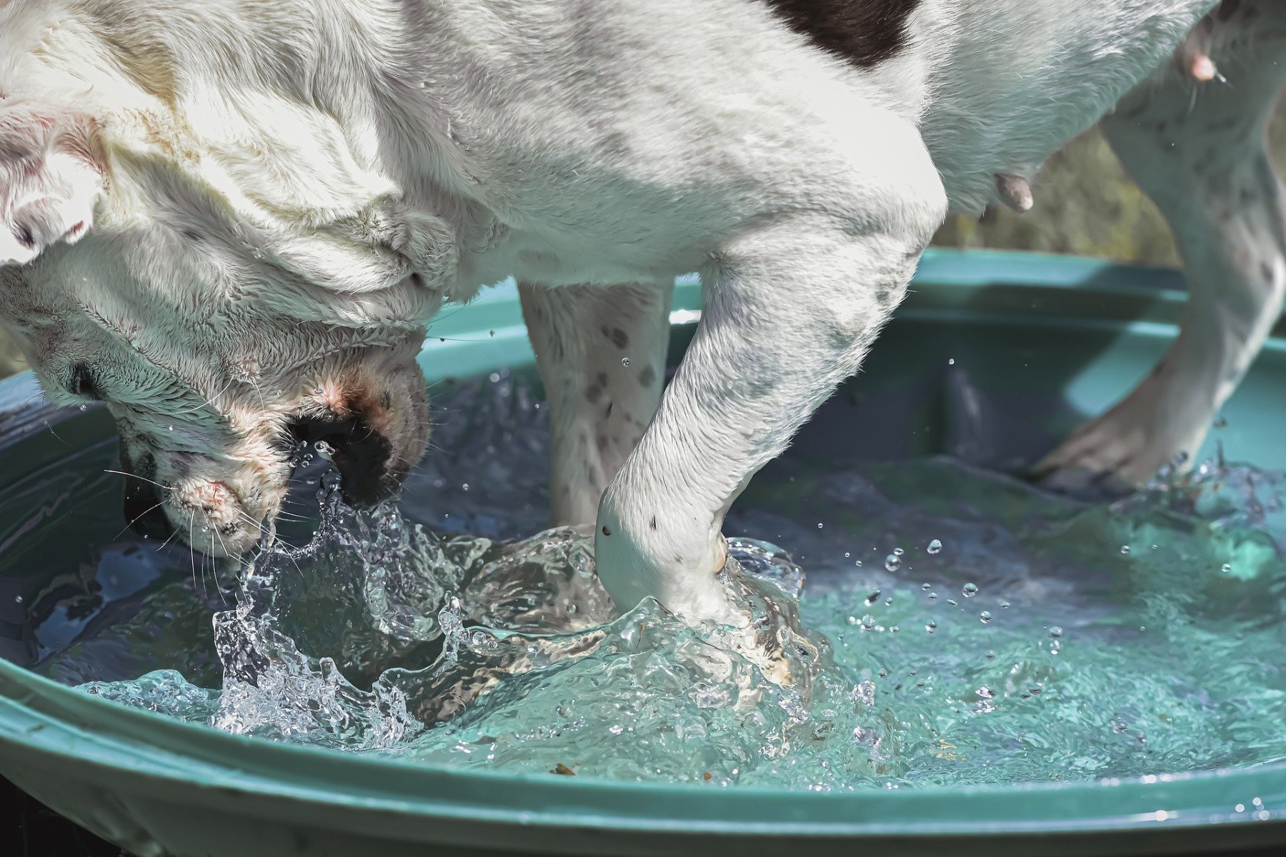
<svg viewBox="0 0 1286 857">
<path fill-rule="evenodd" d="M 747 626 L 694 630 L 620 614 L 590 541 L 539 532 L 525 387 L 466 384 L 440 421 L 400 510 L 327 497 L 316 543 L 248 576 L 104 551 L 100 581 L 157 582 L 55 609 L 37 668 L 234 732 L 502 771 L 828 790 L 1286 758 L 1281 474 L 1208 465 L 1109 506 L 949 459 L 787 459 L 727 528 Z"/>
</svg>

